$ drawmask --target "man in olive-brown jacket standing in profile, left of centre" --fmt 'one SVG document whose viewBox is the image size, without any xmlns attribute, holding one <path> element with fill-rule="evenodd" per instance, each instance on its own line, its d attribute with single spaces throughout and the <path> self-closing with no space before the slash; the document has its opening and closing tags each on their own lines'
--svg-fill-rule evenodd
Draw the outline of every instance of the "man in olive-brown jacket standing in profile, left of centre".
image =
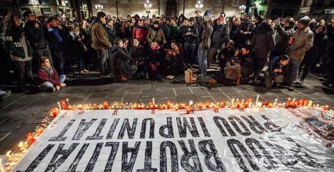
<svg viewBox="0 0 334 172">
<path fill-rule="evenodd" d="M 101 77 L 109 77 L 106 73 L 106 58 L 108 56 L 107 48 L 111 48 L 108 33 L 104 29 L 103 24 L 106 22 L 106 13 L 97 12 L 95 22 L 92 25 L 93 48 L 97 51 L 97 56 L 100 60 L 100 75 Z"/>
</svg>

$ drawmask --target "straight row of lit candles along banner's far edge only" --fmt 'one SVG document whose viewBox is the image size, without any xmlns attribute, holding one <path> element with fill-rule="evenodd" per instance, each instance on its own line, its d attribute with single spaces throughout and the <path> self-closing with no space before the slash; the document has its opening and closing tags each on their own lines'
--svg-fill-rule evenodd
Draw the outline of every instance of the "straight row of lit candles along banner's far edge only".
<svg viewBox="0 0 334 172">
<path fill-rule="evenodd" d="M 167 100 L 166 104 L 155 104 L 154 98 L 152 98 L 152 102 L 149 104 L 137 104 L 137 103 L 122 103 L 122 102 L 113 102 L 108 103 L 106 100 L 102 102 L 102 104 L 77 104 L 71 105 L 68 99 L 61 100 L 58 102 L 58 108 L 51 109 L 51 116 L 56 117 L 59 110 L 81 110 L 81 109 L 172 109 L 174 111 L 178 111 L 179 109 L 218 109 L 218 108 L 236 108 L 236 109 L 244 109 L 244 108 L 260 108 L 260 107 L 286 107 L 286 108 L 296 108 L 296 107 L 319 107 L 319 104 L 313 104 L 312 100 L 307 99 L 291 99 L 289 98 L 286 102 L 279 103 L 278 99 L 276 98 L 275 102 L 259 101 L 260 95 L 257 95 L 255 102 L 252 98 L 248 98 L 246 100 L 242 99 L 232 99 L 230 102 L 209 102 L 208 100 L 205 101 L 205 104 L 202 102 L 198 102 L 194 104 L 193 101 L 189 101 L 189 104 L 173 104 L 170 100 Z M 329 106 L 325 105 L 322 106 L 324 110 L 328 110 Z M 187 112 L 187 111 L 186 111 Z"/>
</svg>

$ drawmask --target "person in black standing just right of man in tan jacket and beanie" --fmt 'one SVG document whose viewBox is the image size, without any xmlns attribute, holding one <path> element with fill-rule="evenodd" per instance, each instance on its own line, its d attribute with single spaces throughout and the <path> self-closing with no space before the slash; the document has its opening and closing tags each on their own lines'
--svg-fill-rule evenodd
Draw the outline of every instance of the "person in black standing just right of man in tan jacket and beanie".
<svg viewBox="0 0 334 172">
<path fill-rule="evenodd" d="M 301 61 L 301 65 L 299 65 L 299 72 L 303 68 L 303 74 L 301 78 L 296 81 L 296 84 L 303 84 L 304 79 L 308 76 L 308 72 L 312 65 L 319 59 L 319 57 L 324 56 L 326 52 L 328 37 L 326 26 L 316 26 L 315 27 L 315 37 L 313 40 L 312 47 L 305 53 L 303 60 Z"/>
</svg>

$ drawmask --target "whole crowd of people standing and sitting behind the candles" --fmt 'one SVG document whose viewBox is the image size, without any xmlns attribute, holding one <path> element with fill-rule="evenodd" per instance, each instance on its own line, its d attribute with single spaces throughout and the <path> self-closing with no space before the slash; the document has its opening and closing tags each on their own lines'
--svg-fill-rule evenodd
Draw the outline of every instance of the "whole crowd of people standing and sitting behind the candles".
<svg viewBox="0 0 334 172">
<path fill-rule="evenodd" d="M 189 18 L 117 18 L 99 11 L 82 21 L 66 14 L 36 17 L 31 10 L 22 19 L 8 14 L 0 72 L 8 76 L 13 70 L 23 91 L 37 87 L 52 92 L 66 86 L 66 76 L 89 70 L 127 81 L 173 78 L 198 67 L 198 77 L 204 78 L 217 63 L 218 72 L 208 84 L 264 84 L 293 91 L 314 70 L 333 88 L 334 18 L 264 19 L 256 5 L 253 10 L 253 15 L 221 13 L 216 19 L 200 10 Z"/>
</svg>

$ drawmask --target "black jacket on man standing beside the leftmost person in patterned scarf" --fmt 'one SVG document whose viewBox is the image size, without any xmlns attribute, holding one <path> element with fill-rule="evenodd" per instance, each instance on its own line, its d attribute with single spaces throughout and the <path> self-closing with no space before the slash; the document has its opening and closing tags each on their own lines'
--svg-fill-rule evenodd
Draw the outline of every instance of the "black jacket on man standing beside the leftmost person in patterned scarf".
<svg viewBox="0 0 334 172">
<path fill-rule="evenodd" d="M 35 28 L 34 24 L 37 21 L 28 21 L 24 24 L 24 32 L 29 40 L 29 43 L 33 49 L 45 49 L 48 45 L 45 34 L 45 29 L 42 28 L 41 24 L 38 28 Z"/>
</svg>

